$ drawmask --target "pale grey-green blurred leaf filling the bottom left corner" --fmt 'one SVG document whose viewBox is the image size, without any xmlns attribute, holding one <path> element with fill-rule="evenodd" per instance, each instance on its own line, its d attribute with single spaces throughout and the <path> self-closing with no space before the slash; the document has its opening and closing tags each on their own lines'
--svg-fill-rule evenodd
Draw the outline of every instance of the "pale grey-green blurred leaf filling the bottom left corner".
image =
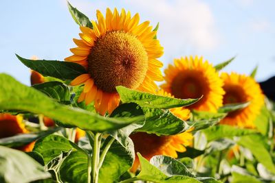
<svg viewBox="0 0 275 183">
<path fill-rule="evenodd" d="M 22 151 L 0 146 L 0 182 L 32 182 L 50 178 L 43 166 Z"/>
</svg>

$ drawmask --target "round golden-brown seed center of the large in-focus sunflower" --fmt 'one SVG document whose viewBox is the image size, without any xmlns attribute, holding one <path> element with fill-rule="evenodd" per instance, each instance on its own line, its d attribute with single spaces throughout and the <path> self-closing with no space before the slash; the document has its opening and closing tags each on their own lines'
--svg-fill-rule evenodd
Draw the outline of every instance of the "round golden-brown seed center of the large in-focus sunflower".
<svg viewBox="0 0 275 183">
<path fill-rule="evenodd" d="M 98 88 L 115 93 L 115 86 L 135 89 L 148 70 L 142 42 L 123 31 L 107 32 L 96 40 L 88 57 L 88 71 Z"/>
</svg>

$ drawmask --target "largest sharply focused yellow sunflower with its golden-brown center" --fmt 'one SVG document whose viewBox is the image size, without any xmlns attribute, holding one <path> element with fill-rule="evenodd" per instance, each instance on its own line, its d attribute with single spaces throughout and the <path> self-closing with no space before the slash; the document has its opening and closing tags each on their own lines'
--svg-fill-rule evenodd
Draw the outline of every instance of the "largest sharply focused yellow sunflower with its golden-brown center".
<svg viewBox="0 0 275 183">
<path fill-rule="evenodd" d="M 149 22 L 140 23 L 139 14 L 107 8 L 106 19 L 100 11 L 98 22 L 91 21 L 93 29 L 80 27 L 80 40 L 74 39 L 78 47 L 71 49 L 73 56 L 65 61 L 76 62 L 87 69 L 87 73 L 76 77 L 72 86 L 84 84 L 78 102 L 94 101 L 100 114 L 111 113 L 120 102 L 115 86 L 153 92 L 154 81 L 162 81 L 159 70 L 163 47 L 155 39 L 156 32 Z"/>
</svg>

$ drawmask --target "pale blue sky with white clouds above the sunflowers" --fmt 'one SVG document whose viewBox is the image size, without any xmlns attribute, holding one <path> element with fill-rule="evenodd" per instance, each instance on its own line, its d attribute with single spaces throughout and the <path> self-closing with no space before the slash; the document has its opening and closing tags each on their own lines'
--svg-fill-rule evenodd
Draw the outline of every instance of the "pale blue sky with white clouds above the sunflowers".
<svg viewBox="0 0 275 183">
<path fill-rule="evenodd" d="M 164 67 L 173 58 L 199 55 L 213 64 L 237 56 L 224 71 L 250 74 L 256 80 L 275 75 L 275 1 L 260 0 L 71 0 L 90 19 L 96 10 L 125 8 L 141 21 L 159 22 Z M 0 73 L 30 84 L 30 70 L 17 60 L 38 56 L 63 60 L 80 32 L 67 11 L 66 0 L 0 1 Z"/>
</svg>

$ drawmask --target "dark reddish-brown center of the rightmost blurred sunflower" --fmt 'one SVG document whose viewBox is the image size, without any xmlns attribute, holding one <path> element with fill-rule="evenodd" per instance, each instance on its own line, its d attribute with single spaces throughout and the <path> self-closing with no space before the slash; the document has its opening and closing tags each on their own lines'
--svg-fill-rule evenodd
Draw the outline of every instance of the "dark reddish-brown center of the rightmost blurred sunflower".
<svg viewBox="0 0 275 183">
<path fill-rule="evenodd" d="M 239 86 L 224 86 L 225 95 L 223 96 L 223 104 L 241 103 L 247 101 L 243 88 Z"/>
</svg>

